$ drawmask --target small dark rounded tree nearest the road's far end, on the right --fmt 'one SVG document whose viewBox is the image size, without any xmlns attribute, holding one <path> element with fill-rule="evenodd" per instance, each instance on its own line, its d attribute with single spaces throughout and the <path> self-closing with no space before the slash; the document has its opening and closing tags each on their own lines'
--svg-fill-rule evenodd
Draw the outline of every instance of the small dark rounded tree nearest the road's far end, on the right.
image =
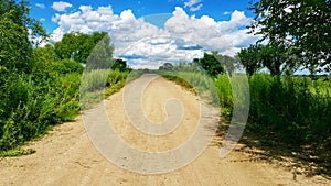
<svg viewBox="0 0 331 186">
<path fill-rule="evenodd" d="M 204 53 L 203 58 L 194 58 L 193 64 L 202 67 L 209 75 L 213 77 L 225 72 L 223 65 L 216 59 L 213 53 Z"/>
</svg>

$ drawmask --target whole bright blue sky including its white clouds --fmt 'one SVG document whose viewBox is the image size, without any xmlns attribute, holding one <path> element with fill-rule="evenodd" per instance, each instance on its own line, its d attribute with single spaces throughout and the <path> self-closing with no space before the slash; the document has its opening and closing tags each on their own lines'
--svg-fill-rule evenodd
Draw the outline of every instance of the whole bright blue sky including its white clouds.
<svg viewBox="0 0 331 186">
<path fill-rule="evenodd" d="M 60 41 L 68 32 L 108 32 L 115 56 L 157 68 L 206 51 L 234 55 L 258 40 L 247 34 L 248 0 L 31 0 L 31 15 Z"/>
</svg>

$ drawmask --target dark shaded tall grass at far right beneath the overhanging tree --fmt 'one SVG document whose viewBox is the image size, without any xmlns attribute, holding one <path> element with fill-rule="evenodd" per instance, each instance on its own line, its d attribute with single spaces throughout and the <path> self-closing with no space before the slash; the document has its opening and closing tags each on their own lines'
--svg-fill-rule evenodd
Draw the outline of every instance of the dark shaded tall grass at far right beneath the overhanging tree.
<svg viewBox="0 0 331 186">
<path fill-rule="evenodd" d="M 280 140 L 321 142 L 331 132 L 331 95 L 309 78 L 254 75 L 250 86 L 250 130 L 274 131 Z"/>
</svg>

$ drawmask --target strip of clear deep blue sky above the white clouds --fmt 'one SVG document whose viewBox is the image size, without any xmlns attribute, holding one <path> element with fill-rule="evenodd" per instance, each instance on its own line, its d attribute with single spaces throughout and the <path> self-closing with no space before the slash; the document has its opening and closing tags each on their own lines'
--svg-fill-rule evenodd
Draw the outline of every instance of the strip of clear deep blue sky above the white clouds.
<svg viewBox="0 0 331 186">
<path fill-rule="evenodd" d="M 52 8 L 54 0 L 30 0 L 32 6 L 31 15 L 35 19 L 42 19 L 43 25 L 49 32 L 52 32 L 57 24 L 52 22 L 52 17 L 57 12 Z M 114 13 L 119 14 L 124 10 L 131 9 L 137 18 L 150 15 L 150 14 L 171 14 L 175 7 L 182 7 L 186 10 L 189 15 L 210 15 L 216 21 L 229 20 L 231 14 L 234 10 L 245 11 L 248 17 L 253 17 L 253 13 L 247 10 L 248 0 L 202 0 L 196 3 L 195 7 L 202 4 L 200 10 L 190 11 L 190 7 L 185 7 L 184 0 L 63 0 L 63 2 L 68 2 L 72 7 L 66 9 L 66 12 L 75 11 L 79 6 L 92 6 L 107 7 L 111 6 Z M 194 7 L 194 6 L 193 6 Z M 159 25 L 162 26 L 162 25 Z"/>
</svg>

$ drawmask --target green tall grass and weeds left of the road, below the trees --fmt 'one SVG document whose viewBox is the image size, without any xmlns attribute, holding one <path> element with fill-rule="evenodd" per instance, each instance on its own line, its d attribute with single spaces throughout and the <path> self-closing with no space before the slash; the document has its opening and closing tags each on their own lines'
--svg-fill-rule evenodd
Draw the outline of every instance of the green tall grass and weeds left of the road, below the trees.
<svg viewBox="0 0 331 186">
<path fill-rule="evenodd" d="M 4 87 L 4 91 L 0 92 L 0 155 L 43 134 L 54 124 L 73 120 L 82 108 L 82 79 L 85 92 L 93 95 L 106 86 L 110 95 L 125 85 L 128 74 L 103 70 L 82 77 L 81 73 L 51 70 L 51 74 L 44 73 L 40 78 L 26 74 L 13 74 L 9 78 L 0 76 L 1 87 Z"/>
</svg>

